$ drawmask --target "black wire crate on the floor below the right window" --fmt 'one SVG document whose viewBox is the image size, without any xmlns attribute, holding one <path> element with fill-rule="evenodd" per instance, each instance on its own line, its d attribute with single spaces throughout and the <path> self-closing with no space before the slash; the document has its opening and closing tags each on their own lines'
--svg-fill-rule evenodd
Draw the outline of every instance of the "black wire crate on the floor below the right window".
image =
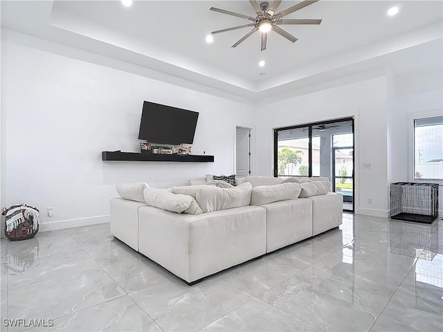
<svg viewBox="0 0 443 332">
<path fill-rule="evenodd" d="M 438 184 L 391 183 L 389 216 L 391 219 L 432 223 L 438 216 Z"/>
</svg>

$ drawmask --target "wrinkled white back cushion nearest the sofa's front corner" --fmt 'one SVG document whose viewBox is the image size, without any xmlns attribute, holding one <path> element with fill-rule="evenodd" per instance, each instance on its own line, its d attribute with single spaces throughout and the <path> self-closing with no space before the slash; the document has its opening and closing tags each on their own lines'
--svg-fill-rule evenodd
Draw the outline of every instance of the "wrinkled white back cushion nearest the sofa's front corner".
<svg viewBox="0 0 443 332">
<path fill-rule="evenodd" d="M 232 188 L 202 185 L 197 190 L 196 199 L 203 212 L 219 211 L 249 205 L 251 192 L 251 183 L 242 183 Z"/>
</svg>

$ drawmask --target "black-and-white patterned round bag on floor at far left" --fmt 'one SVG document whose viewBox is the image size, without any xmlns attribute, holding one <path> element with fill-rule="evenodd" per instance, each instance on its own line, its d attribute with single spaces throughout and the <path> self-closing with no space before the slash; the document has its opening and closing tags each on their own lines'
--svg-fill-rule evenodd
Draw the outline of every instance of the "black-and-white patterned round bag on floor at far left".
<svg viewBox="0 0 443 332">
<path fill-rule="evenodd" d="M 39 210 L 33 206 L 15 204 L 1 214 L 6 216 L 5 235 L 12 241 L 31 239 L 39 231 Z"/>
</svg>

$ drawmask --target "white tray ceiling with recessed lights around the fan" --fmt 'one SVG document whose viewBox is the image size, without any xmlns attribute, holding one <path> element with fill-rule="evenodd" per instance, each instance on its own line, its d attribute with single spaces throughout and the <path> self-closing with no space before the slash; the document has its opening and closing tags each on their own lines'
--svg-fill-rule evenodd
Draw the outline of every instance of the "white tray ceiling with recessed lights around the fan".
<svg viewBox="0 0 443 332">
<path fill-rule="evenodd" d="M 323 19 L 319 26 L 283 26 L 296 43 L 271 31 L 264 51 L 259 32 L 230 47 L 250 28 L 205 42 L 210 31 L 250 23 L 211 6 L 255 16 L 248 1 L 134 1 L 129 8 L 120 1 L 1 1 L 1 26 L 260 100 L 384 66 L 397 74 L 441 71 L 442 4 L 320 0 L 284 17 Z M 391 6 L 399 7 L 395 17 L 386 15 Z"/>
</svg>

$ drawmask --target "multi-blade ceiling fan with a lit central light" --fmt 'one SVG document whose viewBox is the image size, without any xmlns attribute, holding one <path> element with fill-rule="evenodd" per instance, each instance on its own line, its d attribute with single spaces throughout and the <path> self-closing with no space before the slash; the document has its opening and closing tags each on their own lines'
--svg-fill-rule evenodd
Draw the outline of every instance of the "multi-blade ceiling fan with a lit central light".
<svg viewBox="0 0 443 332">
<path fill-rule="evenodd" d="M 250 24 L 243 24 L 242 26 L 234 26 L 233 28 L 226 28 L 221 29 L 217 31 L 211 32 L 212 34 L 215 33 L 224 33 L 226 31 L 230 30 L 237 30 L 241 28 L 247 28 L 247 27 L 253 27 L 251 31 L 246 33 L 244 37 L 239 39 L 238 42 L 233 44 L 232 47 L 238 46 L 240 43 L 244 42 L 246 38 L 251 36 L 255 31 L 259 30 L 262 33 L 262 50 L 266 50 L 266 38 L 267 33 L 270 30 L 274 30 L 279 35 L 282 35 L 284 38 L 288 39 L 289 41 L 295 43 L 298 39 L 296 37 L 293 37 L 290 33 L 287 33 L 287 31 L 280 28 L 280 24 L 320 24 L 321 19 L 282 19 L 282 17 L 291 14 L 291 12 L 295 12 L 296 10 L 300 10 L 302 8 L 305 8 L 306 6 L 311 5 L 312 3 L 316 3 L 318 0 L 305 0 L 300 3 L 297 3 L 294 6 L 291 6 L 285 10 L 282 10 L 281 12 L 276 12 L 278 6 L 282 2 L 281 0 L 274 0 L 271 6 L 269 6 L 268 2 L 262 2 L 259 4 L 255 0 L 249 1 L 251 3 L 251 6 L 255 10 L 255 13 L 257 14 L 256 17 L 248 16 L 239 14 L 237 12 L 230 12 L 229 10 L 219 9 L 211 7 L 210 10 L 213 10 L 214 12 L 221 12 L 222 14 L 232 15 L 235 17 L 241 17 L 242 19 L 248 19 L 249 21 L 253 21 L 253 23 Z"/>
</svg>

